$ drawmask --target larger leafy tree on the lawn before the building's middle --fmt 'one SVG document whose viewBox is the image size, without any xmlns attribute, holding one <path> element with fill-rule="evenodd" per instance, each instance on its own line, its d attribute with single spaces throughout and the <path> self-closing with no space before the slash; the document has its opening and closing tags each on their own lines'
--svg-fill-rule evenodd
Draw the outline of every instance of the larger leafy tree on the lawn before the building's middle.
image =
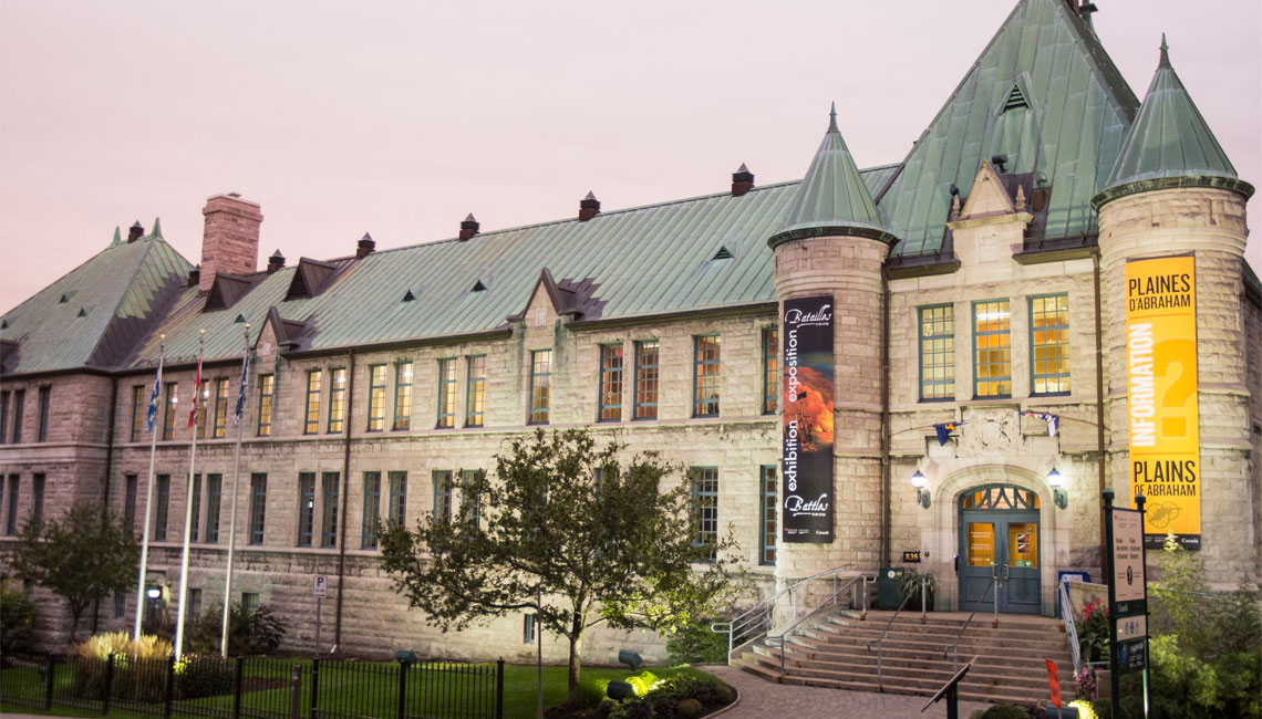
<svg viewBox="0 0 1262 719">
<path fill-rule="evenodd" d="M 443 631 L 534 609 L 544 629 L 569 641 L 573 699 L 587 629 L 673 631 L 733 588 L 731 536 L 695 541 L 688 483 L 665 486 L 681 469 L 655 453 L 623 467 L 623 449 L 597 448 L 586 429 L 511 440 L 495 458 L 496 481 L 485 472 L 462 481 L 451 520 L 379 527 L 395 589 Z"/>
</svg>

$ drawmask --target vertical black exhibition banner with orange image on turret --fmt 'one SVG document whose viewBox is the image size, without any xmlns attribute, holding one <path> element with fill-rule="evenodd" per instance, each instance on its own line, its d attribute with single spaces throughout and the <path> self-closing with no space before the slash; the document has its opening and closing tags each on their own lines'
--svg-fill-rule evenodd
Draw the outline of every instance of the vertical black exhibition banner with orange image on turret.
<svg viewBox="0 0 1262 719">
<path fill-rule="evenodd" d="M 784 541 L 833 541 L 833 298 L 784 303 Z"/>
</svg>

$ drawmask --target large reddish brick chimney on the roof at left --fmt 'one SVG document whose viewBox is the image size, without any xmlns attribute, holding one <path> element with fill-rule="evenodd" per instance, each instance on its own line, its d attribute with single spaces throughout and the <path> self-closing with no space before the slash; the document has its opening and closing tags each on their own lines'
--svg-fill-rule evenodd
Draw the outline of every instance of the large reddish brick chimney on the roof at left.
<svg viewBox="0 0 1262 719">
<path fill-rule="evenodd" d="M 211 291 L 216 272 L 249 275 L 259 267 L 259 226 L 262 212 L 255 202 L 230 192 L 216 194 L 202 208 L 202 278 L 198 289 Z"/>
</svg>

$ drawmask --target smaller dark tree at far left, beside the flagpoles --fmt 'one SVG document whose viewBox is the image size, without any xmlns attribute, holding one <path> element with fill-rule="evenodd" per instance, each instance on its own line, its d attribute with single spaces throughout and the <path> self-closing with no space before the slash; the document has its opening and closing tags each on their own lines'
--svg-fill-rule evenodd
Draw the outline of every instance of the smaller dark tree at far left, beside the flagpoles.
<svg viewBox="0 0 1262 719">
<path fill-rule="evenodd" d="M 135 537 L 110 512 L 74 505 L 61 520 L 27 522 L 10 555 L 13 573 L 66 600 L 69 642 L 80 618 L 95 602 L 125 592 L 136 579 L 140 551 Z"/>
</svg>

